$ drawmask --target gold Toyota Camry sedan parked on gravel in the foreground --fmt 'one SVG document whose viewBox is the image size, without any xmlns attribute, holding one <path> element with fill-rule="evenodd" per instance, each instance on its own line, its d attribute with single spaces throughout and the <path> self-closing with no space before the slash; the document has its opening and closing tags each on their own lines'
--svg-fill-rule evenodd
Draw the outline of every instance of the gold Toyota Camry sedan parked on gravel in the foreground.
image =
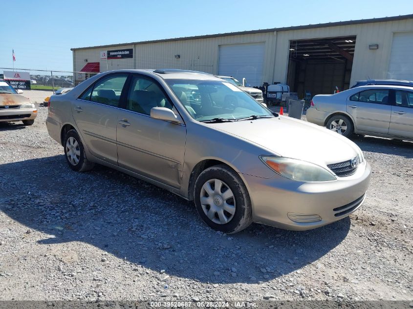
<svg viewBox="0 0 413 309">
<path fill-rule="evenodd" d="M 370 165 L 326 128 L 272 113 L 213 75 L 174 69 L 98 74 L 50 98 L 49 135 L 67 164 L 102 164 L 194 201 L 210 227 L 293 230 L 347 217 Z"/>
</svg>

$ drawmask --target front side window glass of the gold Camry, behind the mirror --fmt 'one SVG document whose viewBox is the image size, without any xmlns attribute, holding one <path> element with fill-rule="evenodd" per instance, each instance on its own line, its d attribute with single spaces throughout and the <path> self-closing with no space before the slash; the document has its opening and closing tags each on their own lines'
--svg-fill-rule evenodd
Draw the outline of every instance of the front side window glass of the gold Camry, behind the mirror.
<svg viewBox="0 0 413 309">
<path fill-rule="evenodd" d="M 133 76 L 130 83 L 126 109 L 151 115 L 152 107 L 173 109 L 173 105 L 155 82 L 142 76 Z"/>
</svg>

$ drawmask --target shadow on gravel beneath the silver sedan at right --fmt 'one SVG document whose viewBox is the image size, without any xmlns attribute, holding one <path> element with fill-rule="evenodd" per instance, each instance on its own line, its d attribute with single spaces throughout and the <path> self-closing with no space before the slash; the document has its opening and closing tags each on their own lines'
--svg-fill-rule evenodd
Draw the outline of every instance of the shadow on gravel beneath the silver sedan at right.
<svg viewBox="0 0 413 309">
<path fill-rule="evenodd" d="M 363 151 L 396 154 L 407 159 L 413 158 L 413 142 L 363 135 L 353 135 L 351 140 Z"/>
</svg>

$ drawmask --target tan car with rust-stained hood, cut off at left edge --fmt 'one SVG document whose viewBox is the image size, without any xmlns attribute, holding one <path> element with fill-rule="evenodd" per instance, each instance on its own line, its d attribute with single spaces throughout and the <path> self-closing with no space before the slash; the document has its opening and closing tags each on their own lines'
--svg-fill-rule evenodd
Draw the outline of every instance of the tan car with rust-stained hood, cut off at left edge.
<svg viewBox="0 0 413 309">
<path fill-rule="evenodd" d="M 37 108 L 22 93 L 22 90 L 16 91 L 8 82 L 0 79 L 0 122 L 34 124 Z"/>
</svg>

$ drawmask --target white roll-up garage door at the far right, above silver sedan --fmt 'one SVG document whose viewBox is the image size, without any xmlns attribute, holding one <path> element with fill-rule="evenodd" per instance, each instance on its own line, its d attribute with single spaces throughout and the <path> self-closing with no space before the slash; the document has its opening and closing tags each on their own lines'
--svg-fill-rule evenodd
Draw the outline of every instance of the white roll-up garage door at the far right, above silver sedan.
<svg viewBox="0 0 413 309">
<path fill-rule="evenodd" d="M 398 32 L 393 34 L 389 72 L 387 77 L 392 80 L 413 81 L 413 32 Z"/>
</svg>

